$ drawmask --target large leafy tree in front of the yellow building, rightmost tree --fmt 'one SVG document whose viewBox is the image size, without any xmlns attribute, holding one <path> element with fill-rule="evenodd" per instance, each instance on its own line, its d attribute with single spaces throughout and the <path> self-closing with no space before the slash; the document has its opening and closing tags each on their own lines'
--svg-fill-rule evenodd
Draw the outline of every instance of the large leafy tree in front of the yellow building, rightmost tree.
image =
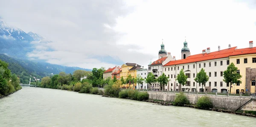
<svg viewBox="0 0 256 127">
<path fill-rule="evenodd" d="M 232 62 L 230 65 L 227 66 L 227 70 L 223 72 L 224 79 L 223 81 L 226 83 L 230 83 L 230 93 L 231 93 L 231 86 L 234 83 L 242 83 L 239 79 L 241 79 L 241 75 L 236 72 L 237 67 Z"/>
</svg>

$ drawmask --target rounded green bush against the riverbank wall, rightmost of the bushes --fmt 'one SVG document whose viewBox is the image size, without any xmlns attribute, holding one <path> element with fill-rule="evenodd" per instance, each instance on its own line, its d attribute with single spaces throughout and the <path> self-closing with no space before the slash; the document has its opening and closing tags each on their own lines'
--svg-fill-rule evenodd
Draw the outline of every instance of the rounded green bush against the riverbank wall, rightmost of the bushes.
<svg viewBox="0 0 256 127">
<path fill-rule="evenodd" d="M 196 106 L 200 109 L 209 109 L 213 107 L 213 104 L 209 96 L 202 96 L 198 99 Z"/>
</svg>

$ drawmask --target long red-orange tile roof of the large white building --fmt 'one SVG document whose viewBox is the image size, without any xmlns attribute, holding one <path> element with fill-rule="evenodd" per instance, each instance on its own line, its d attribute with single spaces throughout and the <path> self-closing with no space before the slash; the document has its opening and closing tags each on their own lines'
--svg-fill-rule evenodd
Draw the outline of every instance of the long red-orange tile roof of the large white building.
<svg viewBox="0 0 256 127">
<path fill-rule="evenodd" d="M 163 66 L 170 66 L 170 65 L 180 65 L 185 63 L 191 63 L 191 62 L 200 62 L 210 59 L 220 59 L 230 56 L 234 51 L 236 47 L 233 48 L 227 48 L 220 51 L 211 52 L 209 54 L 196 54 L 192 56 L 188 56 L 186 59 L 180 59 L 180 60 L 174 60 L 168 62 L 166 65 Z"/>
</svg>

